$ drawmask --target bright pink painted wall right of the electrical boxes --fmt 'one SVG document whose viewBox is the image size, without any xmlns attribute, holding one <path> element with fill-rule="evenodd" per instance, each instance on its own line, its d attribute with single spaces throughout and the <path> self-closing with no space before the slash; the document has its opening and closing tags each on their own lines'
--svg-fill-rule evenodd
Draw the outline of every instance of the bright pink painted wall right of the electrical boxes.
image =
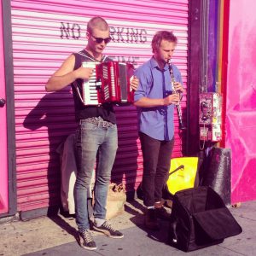
<svg viewBox="0 0 256 256">
<path fill-rule="evenodd" d="M 256 15 L 254 0 L 230 1 L 226 148 L 233 203 L 256 199 Z"/>
</svg>

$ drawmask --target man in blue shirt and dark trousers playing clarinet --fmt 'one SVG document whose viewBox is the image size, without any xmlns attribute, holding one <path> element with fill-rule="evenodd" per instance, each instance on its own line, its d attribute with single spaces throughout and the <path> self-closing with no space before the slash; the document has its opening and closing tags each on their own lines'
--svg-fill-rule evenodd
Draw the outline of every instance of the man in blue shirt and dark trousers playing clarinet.
<svg viewBox="0 0 256 256">
<path fill-rule="evenodd" d="M 134 104 L 138 109 L 143 151 L 143 204 L 147 207 L 144 224 L 148 229 L 159 230 L 158 218 L 170 218 L 161 198 L 174 145 L 173 112 L 180 101 L 180 95 L 174 89 L 182 92 L 183 85 L 181 73 L 175 65 L 172 65 L 175 77 L 175 83 L 172 83 L 168 64 L 177 46 L 174 34 L 156 32 L 151 46 L 153 56 L 136 71 L 139 86 Z"/>
</svg>

